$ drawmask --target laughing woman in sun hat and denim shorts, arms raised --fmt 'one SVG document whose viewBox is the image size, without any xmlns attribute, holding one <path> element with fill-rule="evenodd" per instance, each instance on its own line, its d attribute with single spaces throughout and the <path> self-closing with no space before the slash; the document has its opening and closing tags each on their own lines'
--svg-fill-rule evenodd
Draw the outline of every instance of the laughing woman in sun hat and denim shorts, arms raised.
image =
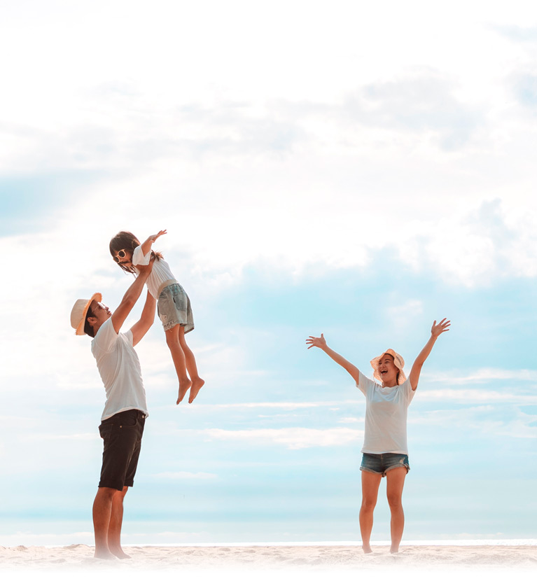
<svg viewBox="0 0 537 588">
<path fill-rule="evenodd" d="M 365 395 L 365 435 L 362 447 L 362 506 L 360 509 L 360 531 L 362 548 L 366 554 L 372 553 L 370 546 L 373 526 L 373 510 L 377 504 L 380 480 L 386 476 L 386 494 L 391 512 L 391 553 L 398 553 L 405 515 L 401 496 L 403 484 L 410 465 L 407 449 L 407 408 L 416 391 L 419 374 L 433 345 L 442 332 L 449 330 L 449 321 L 442 318 L 431 327 L 431 338 L 417 356 L 407 379 L 403 358 L 388 349 L 371 360 L 373 377 L 382 382 L 377 384 L 366 378 L 355 365 L 339 353 L 330 349 L 324 335 L 306 339 L 308 349 L 319 347 L 351 374 L 356 386 Z"/>
</svg>

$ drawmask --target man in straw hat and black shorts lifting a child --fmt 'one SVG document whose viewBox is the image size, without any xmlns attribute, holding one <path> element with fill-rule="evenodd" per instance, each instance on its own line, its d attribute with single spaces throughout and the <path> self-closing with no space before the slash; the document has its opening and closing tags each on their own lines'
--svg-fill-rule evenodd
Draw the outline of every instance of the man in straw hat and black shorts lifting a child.
<svg viewBox="0 0 537 588">
<path fill-rule="evenodd" d="M 146 392 L 134 345 L 148 332 L 155 318 L 155 298 L 148 292 L 140 320 L 127 332 L 120 328 L 139 299 L 151 266 L 139 266 L 139 275 L 111 313 L 99 293 L 77 300 L 71 311 L 76 335 L 90 335 L 91 349 L 106 390 L 99 433 L 104 441 L 101 479 L 93 503 L 95 557 L 129 556 L 121 548 L 123 499 L 134 484 L 144 422 L 148 416 Z"/>
</svg>

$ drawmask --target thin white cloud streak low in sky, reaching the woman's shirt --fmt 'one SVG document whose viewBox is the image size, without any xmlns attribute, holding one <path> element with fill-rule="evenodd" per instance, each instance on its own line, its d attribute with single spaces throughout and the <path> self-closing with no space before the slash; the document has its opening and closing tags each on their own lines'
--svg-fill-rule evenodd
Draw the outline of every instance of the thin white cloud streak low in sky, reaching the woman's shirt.
<svg viewBox="0 0 537 588">
<path fill-rule="evenodd" d="M 204 435 L 212 439 L 247 441 L 261 444 L 284 444 L 288 449 L 332 447 L 347 445 L 363 439 L 363 431 L 351 428 L 281 428 L 253 430 L 205 429 Z"/>
</svg>

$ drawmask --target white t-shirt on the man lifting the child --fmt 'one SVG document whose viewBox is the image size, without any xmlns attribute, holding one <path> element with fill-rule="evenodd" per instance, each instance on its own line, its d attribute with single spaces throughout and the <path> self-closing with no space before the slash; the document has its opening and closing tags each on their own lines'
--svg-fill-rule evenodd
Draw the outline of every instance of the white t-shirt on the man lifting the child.
<svg viewBox="0 0 537 588">
<path fill-rule="evenodd" d="M 106 391 L 101 420 L 131 409 L 141 410 L 148 416 L 140 362 L 132 346 L 132 331 L 118 335 L 109 318 L 92 339 L 91 350 Z"/>
</svg>

